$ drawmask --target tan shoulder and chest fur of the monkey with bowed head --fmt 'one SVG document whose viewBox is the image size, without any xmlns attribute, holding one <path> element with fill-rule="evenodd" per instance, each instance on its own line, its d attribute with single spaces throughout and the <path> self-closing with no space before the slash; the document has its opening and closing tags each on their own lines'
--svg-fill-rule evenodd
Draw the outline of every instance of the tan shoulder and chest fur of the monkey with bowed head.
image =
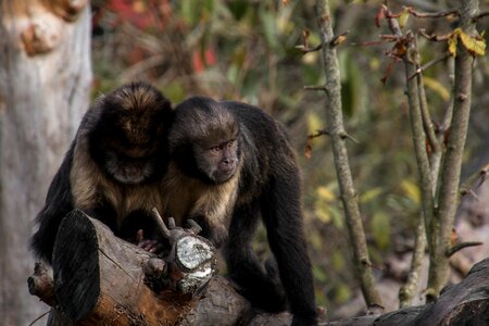
<svg viewBox="0 0 489 326">
<path fill-rule="evenodd" d="M 88 210 L 104 198 L 115 208 L 118 225 L 135 210 L 151 212 L 154 206 L 160 212 L 164 210 L 158 185 L 121 186 L 109 179 L 89 156 L 84 135 L 79 135 L 75 146 L 70 179 L 75 208 Z"/>
</svg>

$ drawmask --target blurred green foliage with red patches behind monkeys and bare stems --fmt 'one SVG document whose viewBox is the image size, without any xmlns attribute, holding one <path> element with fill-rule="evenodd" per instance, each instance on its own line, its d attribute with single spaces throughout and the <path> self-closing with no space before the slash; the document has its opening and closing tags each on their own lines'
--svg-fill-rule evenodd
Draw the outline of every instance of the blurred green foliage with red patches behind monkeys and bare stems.
<svg viewBox="0 0 489 326">
<path fill-rule="evenodd" d="M 373 263 L 383 277 L 385 260 L 413 242 L 421 196 L 409 128 L 403 66 L 386 74 L 389 43 L 379 43 L 375 17 L 383 1 L 329 1 L 335 30 L 349 32 L 339 46 L 350 162 Z M 419 11 L 447 9 L 447 1 L 389 1 L 392 11 L 414 5 Z M 487 5 L 487 1 L 481 1 Z M 296 46 L 319 41 L 312 0 L 108 0 L 92 1 L 93 96 L 122 83 L 146 79 L 173 101 L 190 95 L 234 99 L 263 108 L 290 131 L 303 171 L 305 234 L 314 265 L 316 298 L 329 311 L 348 302 L 358 288 L 336 173 L 327 136 L 314 138 L 306 158 L 306 136 L 323 129 L 326 99 L 305 85 L 324 82 L 319 52 L 303 55 Z M 447 18 L 410 17 L 404 28 L 444 34 Z M 479 32 L 487 28 L 479 26 Z M 444 51 L 446 43 L 419 39 L 422 62 Z M 435 122 L 450 104 L 453 67 L 441 62 L 425 73 Z M 474 65 L 473 115 L 463 175 L 487 159 L 489 148 L 489 64 Z M 383 77 L 387 82 L 383 84 Z M 486 155 L 486 156 L 484 156 Z M 264 255 L 265 234 L 256 240 Z"/>
</svg>

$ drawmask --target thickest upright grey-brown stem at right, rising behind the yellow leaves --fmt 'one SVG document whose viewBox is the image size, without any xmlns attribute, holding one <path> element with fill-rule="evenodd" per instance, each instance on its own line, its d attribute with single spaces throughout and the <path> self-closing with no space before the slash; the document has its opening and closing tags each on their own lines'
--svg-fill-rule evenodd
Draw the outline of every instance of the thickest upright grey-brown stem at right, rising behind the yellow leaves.
<svg viewBox="0 0 489 326">
<path fill-rule="evenodd" d="M 461 28 L 464 33 L 475 33 L 472 21 L 478 12 L 478 1 L 467 0 L 461 2 Z M 440 173 L 440 188 L 438 211 L 435 215 L 432 238 L 430 242 L 430 264 L 428 272 L 428 293 L 438 294 L 444 287 L 449 277 L 449 252 L 453 221 L 459 205 L 459 184 L 462 168 L 462 159 L 467 136 L 468 117 L 471 114 L 472 68 L 474 58 L 468 50 L 459 45 L 455 57 L 455 84 L 453 115 L 450 125 L 450 136 L 447 152 Z M 428 299 L 435 299 L 429 298 Z"/>
</svg>

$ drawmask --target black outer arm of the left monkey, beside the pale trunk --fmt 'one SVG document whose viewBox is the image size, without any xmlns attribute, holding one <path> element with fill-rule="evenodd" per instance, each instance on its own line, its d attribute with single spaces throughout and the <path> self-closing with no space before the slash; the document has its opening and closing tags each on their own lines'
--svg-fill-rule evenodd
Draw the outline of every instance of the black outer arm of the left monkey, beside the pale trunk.
<svg viewBox="0 0 489 326">
<path fill-rule="evenodd" d="M 30 238 L 29 248 L 36 258 L 51 264 L 54 239 L 61 221 L 73 210 L 70 172 L 72 171 L 74 143 L 64 156 L 58 173 L 49 186 L 46 203 L 36 217 L 39 228 Z"/>
</svg>

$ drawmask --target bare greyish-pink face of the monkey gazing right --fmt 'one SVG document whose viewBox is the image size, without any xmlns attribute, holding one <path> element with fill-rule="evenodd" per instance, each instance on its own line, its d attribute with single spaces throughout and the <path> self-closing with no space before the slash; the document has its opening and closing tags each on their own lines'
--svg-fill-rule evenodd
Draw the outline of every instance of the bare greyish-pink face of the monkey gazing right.
<svg viewBox="0 0 489 326">
<path fill-rule="evenodd" d="M 227 181 L 238 167 L 238 148 L 237 139 L 197 145 L 193 151 L 198 168 L 215 184 Z"/>
</svg>

